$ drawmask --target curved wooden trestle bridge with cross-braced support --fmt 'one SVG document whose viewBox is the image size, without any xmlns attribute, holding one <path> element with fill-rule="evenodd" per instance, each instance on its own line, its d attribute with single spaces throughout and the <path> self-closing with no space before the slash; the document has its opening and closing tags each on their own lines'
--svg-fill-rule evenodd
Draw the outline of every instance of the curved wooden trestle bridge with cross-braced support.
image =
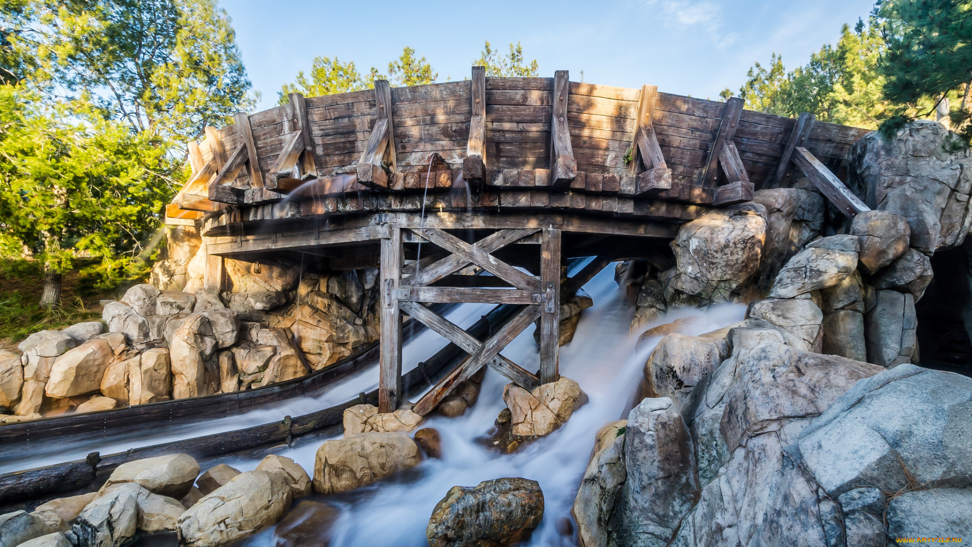
<svg viewBox="0 0 972 547">
<path fill-rule="evenodd" d="M 865 131 L 715 102 L 554 78 L 486 78 L 304 97 L 207 128 L 166 223 L 202 228 L 205 284 L 224 258 L 380 265 L 381 412 L 398 408 L 401 314 L 471 356 L 416 404 L 432 411 L 484 365 L 528 389 L 558 378 L 564 290 L 610 261 L 671 266 L 680 223 L 785 186 L 794 165 L 852 214 L 840 181 Z M 562 264 L 598 257 L 562 281 Z M 492 275 L 471 275 L 470 265 Z M 568 286 L 562 286 L 562 282 Z M 485 342 L 430 303 L 523 305 Z M 540 369 L 500 351 L 539 319 Z"/>
</svg>

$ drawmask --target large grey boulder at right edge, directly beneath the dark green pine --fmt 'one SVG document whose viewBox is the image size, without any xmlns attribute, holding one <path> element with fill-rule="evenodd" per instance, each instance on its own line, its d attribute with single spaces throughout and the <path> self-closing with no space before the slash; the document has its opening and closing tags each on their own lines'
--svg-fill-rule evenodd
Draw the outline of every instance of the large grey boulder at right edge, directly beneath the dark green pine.
<svg viewBox="0 0 972 547">
<path fill-rule="evenodd" d="M 905 218 L 911 246 L 926 254 L 960 245 L 972 222 L 972 155 L 949 152 L 955 138 L 937 122 L 918 120 L 889 140 L 873 132 L 851 148 L 851 190 L 872 209 Z"/>
</svg>

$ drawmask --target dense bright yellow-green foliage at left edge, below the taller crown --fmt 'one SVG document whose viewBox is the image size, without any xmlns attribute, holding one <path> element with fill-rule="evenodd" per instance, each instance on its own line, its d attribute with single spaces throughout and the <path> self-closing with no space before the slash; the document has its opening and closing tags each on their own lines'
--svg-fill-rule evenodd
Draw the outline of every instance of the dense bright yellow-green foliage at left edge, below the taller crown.
<svg viewBox="0 0 972 547">
<path fill-rule="evenodd" d="M 180 164 L 159 137 L 98 114 L 0 86 L 0 257 L 26 246 L 55 272 L 97 257 L 85 274 L 101 287 L 144 274 Z"/>
</svg>

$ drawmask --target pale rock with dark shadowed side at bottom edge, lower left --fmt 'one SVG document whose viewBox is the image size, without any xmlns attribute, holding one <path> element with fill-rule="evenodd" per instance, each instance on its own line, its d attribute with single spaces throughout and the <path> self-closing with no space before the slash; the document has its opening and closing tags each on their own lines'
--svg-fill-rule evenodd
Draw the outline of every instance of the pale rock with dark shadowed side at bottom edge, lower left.
<svg viewBox="0 0 972 547">
<path fill-rule="evenodd" d="M 87 504 L 71 531 L 79 547 L 121 547 L 135 535 L 138 500 L 129 492 L 106 493 Z"/>
</svg>

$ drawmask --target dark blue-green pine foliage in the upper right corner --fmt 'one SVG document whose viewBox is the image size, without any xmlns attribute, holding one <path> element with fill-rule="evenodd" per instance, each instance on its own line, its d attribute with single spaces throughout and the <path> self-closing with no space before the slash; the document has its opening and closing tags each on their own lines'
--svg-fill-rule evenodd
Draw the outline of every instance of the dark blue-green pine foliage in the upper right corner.
<svg viewBox="0 0 972 547">
<path fill-rule="evenodd" d="M 972 80 L 972 2 L 882 0 L 874 16 L 885 39 L 883 91 L 894 105 L 883 134 L 893 134 L 902 120 L 931 116 L 939 101 L 966 93 Z M 968 107 L 963 100 L 951 112 L 966 141 L 972 139 Z"/>
</svg>

